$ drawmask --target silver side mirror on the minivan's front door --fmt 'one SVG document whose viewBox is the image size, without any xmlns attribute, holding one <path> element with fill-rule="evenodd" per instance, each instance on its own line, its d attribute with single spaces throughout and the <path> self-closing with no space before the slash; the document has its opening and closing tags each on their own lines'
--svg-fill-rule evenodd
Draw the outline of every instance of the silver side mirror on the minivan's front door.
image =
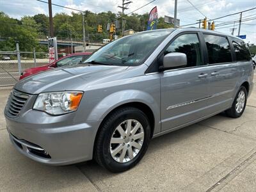
<svg viewBox="0 0 256 192">
<path fill-rule="evenodd" d="M 164 56 L 163 68 L 182 67 L 187 65 L 187 56 L 182 52 L 170 52 Z"/>
</svg>

